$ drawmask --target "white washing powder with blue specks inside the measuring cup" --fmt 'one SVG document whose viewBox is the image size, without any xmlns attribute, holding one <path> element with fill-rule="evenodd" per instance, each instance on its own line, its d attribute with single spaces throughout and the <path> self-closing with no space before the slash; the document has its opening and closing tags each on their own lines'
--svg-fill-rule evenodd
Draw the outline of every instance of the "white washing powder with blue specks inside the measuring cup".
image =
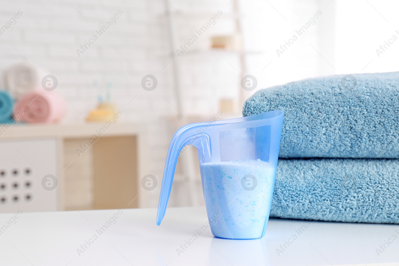
<svg viewBox="0 0 399 266">
<path fill-rule="evenodd" d="M 261 160 L 201 164 L 208 217 L 219 210 L 211 226 L 215 236 L 253 239 L 263 236 L 270 213 L 276 164 Z"/>
</svg>

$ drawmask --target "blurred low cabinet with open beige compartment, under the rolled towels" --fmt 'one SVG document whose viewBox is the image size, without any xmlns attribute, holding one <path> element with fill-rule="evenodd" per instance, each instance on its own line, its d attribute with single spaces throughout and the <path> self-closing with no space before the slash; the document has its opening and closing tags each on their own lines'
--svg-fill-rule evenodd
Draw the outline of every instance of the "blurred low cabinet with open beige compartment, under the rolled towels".
<svg viewBox="0 0 399 266">
<path fill-rule="evenodd" d="M 146 207 L 148 191 L 142 189 L 140 183 L 140 177 L 148 174 L 145 126 L 122 123 L 109 128 L 104 126 L 105 123 L 16 124 L 0 131 L 2 156 L 8 156 L 7 165 L 23 164 L 36 169 L 37 177 L 30 182 L 38 197 L 32 204 L 23 206 L 27 211 Z M 89 146 L 87 143 L 90 143 L 94 135 L 98 140 Z M 52 141 L 53 146 L 43 147 L 40 144 L 43 141 Z M 30 146 L 20 145 L 24 147 L 21 150 L 15 144 L 13 148 L 12 144 L 18 142 L 30 143 Z M 85 150 L 77 144 L 84 145 Z M 78 149 L 84 153 L 70 152 Z M 83 159 L 85 156 L 91 156 L 91 160 Z M 73 167 L 75 171 L 69 171 Z M 91 176 L 85 177 L 81 175 L 82 172 Z M 46 174 L 53 174 L 58 179 L 58 187 L 54 191 L 46 191 L 41 187 L 41 179 Z M 80 179 L 83 178 L 91 182 L 86 186 L 86 191 L 81 189 Z M 91 193 L 91 204 L 79 205 L 79 199 L 74 198 L 79 191 L 82 195 L 86 193 L 86 197 L 87 193 Z M 36 206 L 36 201 L 49 192 L 56 194 L 54 206 Z M 5 211 L 9 210 L 3 208 L 0 202 L 0 212 Z"/>
</svg>

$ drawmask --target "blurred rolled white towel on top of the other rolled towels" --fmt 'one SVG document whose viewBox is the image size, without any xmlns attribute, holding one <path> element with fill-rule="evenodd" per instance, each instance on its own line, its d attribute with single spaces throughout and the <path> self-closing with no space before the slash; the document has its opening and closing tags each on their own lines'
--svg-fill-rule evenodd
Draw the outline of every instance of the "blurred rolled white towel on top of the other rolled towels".
<svg viewBox="0 0 399 266">
<path fill-rule="evenodd" d="M 41 79 L 47 75 L 46 72 L 38 67 L 25 63 L 18 63 L 8 67 L 3 72 L 4 88 L 15 99 L 41 87 Z"/>
</svg>

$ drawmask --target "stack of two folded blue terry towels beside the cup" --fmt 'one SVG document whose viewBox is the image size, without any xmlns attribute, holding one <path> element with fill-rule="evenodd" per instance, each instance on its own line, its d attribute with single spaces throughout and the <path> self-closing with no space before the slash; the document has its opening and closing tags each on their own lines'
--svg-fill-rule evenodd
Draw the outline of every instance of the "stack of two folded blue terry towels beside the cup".
<svg viewBox="0 0 399 266">
<path fill-rule="evenodd" d="M 245 102 L 244 116 L 284 111 L 271 217 L 399 223 L 399 72 L 343 77 Z"/>
</svg>

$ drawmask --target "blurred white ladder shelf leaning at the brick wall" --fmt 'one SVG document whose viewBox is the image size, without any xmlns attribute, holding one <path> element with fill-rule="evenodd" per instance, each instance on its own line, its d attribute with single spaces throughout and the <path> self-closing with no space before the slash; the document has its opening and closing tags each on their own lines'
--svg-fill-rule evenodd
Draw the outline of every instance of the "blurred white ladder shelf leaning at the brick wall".
<svg viewBox="0 0 399 266">
<path fill-rule="evenodd" d="M 237 56 L 239 58 L 239 64 L 240 64 L 240 69 L 239 69 L 239 75 L 240 77 L 243 77 L 244 75 L 246 75 L 246 55 L 248 53 L 252 53 L 252 51 L 243 51 L 242 47 L 242 36 L 241 36 L 241 17 L 239 14 L 239 10 L 237 7 L 237 3 L 236 1 L 234 1 L 233 3 L 231 3 L 233 5 L 233 10 L 232 12 L 229 13 L 223 13 L 223 16 L 219 16 L 219 20 L 223 19 L 227 19 L 230 20 L 230 22 L 232 22 L 235 26 L 235 32 L 234 33 L 230 33 L 230 34 L 234 34 L 239 38 L 239 42 L 241 43 L 241 45 L 239 45 L 240 48 L 237 49 L 213 49 L 212 47 L 208 47 L 207 49 L 195 49 L 194 47 L 190 47 L 190 49 L 186 50 L 184 52 L 184 55 L 186 56 L 201 56 L 204 54 L 210 54 L 213 55 L 215 54 L 215 56 L 220 56 L 220 54 L 230 54 L 230 55 L 234 55 Z M 178 20 L 188 20 L 190 22 L 192 22 L 193 20 L 203 20 L 203 22 L 207 22 L 207 20 L 209 20 L 209 18 L 213 17 L 213 15 L 215 14 L 215 12 L 201 12 L 199 11 L 199 13 L 190 13 L 190 12 L 184 12 L 182 10 L 177 10 L 174 7 L 172 7 L 172 5 L 165 0 L 164 1 L 164 5 L 165 5 L 165 14 L 166 14 L 166 18 L 168 21 L 168 27 L 169 27 L 169 32 L 170 32 L 170 55 L 171 55 L 171 60 L 173 61 L 173 79 L 174 79 L 174 93 L 175 93 L 175 97 L 176 97 L 176 109 L 179 113 L 178 115 L 178 121 L 176 121 L 176 130 L 180 127 L 180 126 L 184 126 L 185 124 L 187 124 L 187 121 L 185 119 L 183 119 L 181 116 L 186 117 L 185 114 L 185 110 L 182 107 L 183 103 L 182 103 L 182 94 L 183 94 L 183 86 L 182 86 L 182 77 L 181 77 L 181 73 L 183 70 L 182 67 L 182 60 L 179 59 L 176 50 L 178 48 L 178 46 L 180 45 L 180 41 L 179 41 L 179 36 L 178 36 L 178 29 L 176 27 L 176 22 Z M 220 22 L 219 22 L 220 23 Z M 193 32 L 193 34 L 196 34 Z M 256 52 L 254 52 L 256 53 Z M 223 57 L 223 55 L 222 55 Z M 223 57 L 224 58 L 224 57 Z M 240 78 L 241 80 L 241 78 Z M 239 87 L 239 93 L 237 95 L 237 97 L 235 97 L 236 99 L 233 98 L 232 102 L 234 104 L 234 116 L 236 117 L 237 114 L 239 114 L 241 112 L 241 107 L 243 106 L 244 100 L 247 99 L 247 92 L 243 91 L 243 89 L 241 89 L 241 84 L 238 83 L 236 84 L 237 87 Z M 238 103 L 238 104 L 237 104 Z M 203 121 L 208 120 L 209 118 L 205 117 L 203 118 Z M 180 160 L 183 162 L 181 164 L 181 168 L 182 168 L 182 178 L 177 178 L 175 179 L 175 182 L 180 180 L 183 180 L 182 182 L 187 182 L 187 188 L 190 191 L 188 194 L 190 195 L 190 202 L 191 202 L 191 206 L 198 206 L 199 202 L 201 201 L 201 195 L 199 195 L 198 191 L 200 191 L 200 189 L 198 188 L 198 186 L 200 186 L 200 183 L 198 182 L 199 180 L 199 169 L 196 169 L 195 167 L 195 160 L 196 160 L 196 154 L 195 154 L 195 149 L 187 149 L 186 152 L 184 152 L 184 155 L 181 156 Z M 178 174 L 176 174 L 178 175 Z"/>
</svg>

